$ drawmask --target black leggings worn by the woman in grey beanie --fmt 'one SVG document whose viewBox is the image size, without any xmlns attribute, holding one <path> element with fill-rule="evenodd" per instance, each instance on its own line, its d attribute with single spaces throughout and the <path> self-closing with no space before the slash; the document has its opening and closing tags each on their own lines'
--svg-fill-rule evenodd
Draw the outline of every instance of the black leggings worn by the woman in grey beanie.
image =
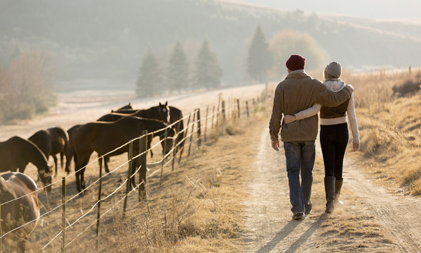
<svg viewBox="0 0 421 253">
<path fill-rule="evenodd" d="M 320 125 L 320 146 L 323 153 L 324 176 L 342 179 L 343 157 L 348 145 L 348 124 Z"/>
</svg>

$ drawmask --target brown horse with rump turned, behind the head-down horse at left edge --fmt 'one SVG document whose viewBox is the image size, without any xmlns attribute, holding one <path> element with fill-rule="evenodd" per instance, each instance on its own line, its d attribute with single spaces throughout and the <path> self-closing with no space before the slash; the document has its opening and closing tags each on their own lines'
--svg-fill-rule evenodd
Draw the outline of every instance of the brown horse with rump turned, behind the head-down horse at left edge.
<svg viewBox="0 0 421 253">
<path fill-rule="evenodd" d="M 48 160 L 50 155 L 54 159 L 54 164 L 56 165 L 56 174 L 57 174 L 57 156 L 60 154 L 61 167 L 63 168 L 63 157 L 67 157 L 68 149 L 68 140 L 69 136 L 67 132 L 61 127 L 51 127 L 47 130 L 39 130 L 28 138 L 30 141 L 35 143 L 44 153 L 45 157 Z"/>
</svg>

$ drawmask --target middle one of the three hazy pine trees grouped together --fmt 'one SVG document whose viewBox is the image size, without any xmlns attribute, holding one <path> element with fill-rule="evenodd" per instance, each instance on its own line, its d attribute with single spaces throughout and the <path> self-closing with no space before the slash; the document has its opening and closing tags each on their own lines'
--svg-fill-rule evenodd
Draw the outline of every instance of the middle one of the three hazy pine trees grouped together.
<svg viewBox="0 0 421 253">
<path fill-rule="evenodd" d="M 177 41 L 171 54 L 167 73 L 167 84 L 170 93 L 173 90 L 181 90 L 189 86 L 189 63 L 183 46 Z"/>
</svg>

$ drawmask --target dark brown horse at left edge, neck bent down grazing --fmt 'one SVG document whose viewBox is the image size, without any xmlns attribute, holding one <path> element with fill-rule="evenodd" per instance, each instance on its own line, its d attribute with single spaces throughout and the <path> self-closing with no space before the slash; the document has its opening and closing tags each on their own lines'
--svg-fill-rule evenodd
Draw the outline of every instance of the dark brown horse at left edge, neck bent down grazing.
<svg viewBox="0 0 421 253">
<path fill-rule="evenodd" d="M 26 165 L 31 162 L 38 168 L 38 177 L 44 185 L 51 184 L 51 167 L 42 151 L 30 140 L 13 136 L 0 142 L 0 172 L 10 170 L 24 172 Z M 51 185 L 47 191 L 51 190 Z"/>
</svg>

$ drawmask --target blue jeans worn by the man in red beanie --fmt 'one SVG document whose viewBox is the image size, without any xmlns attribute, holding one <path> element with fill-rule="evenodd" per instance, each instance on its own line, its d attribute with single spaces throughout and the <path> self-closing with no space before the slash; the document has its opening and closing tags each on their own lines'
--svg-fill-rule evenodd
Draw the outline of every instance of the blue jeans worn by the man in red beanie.
<svg viewBox="0 0 421 253">
<path fill-rule="evenodd" d="M 316 157 L 315 141 L 284 142 L 284 150 L 287 158 L 291 211 L 293 214 L 304 213 L 305 206 L 312 203 L 310 197 L 312 195 L 313 166 Z"/>
</svg>

